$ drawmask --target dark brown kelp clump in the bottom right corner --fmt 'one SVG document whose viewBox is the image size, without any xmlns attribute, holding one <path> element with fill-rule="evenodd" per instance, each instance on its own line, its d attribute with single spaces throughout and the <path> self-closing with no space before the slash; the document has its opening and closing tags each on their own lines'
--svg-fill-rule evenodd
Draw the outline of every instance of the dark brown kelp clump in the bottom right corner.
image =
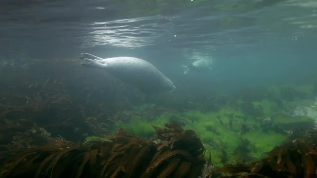
<svg viewBox="0 0 317 178">
<path fill-rule="evenodd" d="M 209 178 L 316 178 L 317 130 L 301 139 L 274 147 L 266 158 L 252 164 L 225 165 L 213 170 Z M 218 177 L 219 173 L 230 173 Z"/>
</svg>

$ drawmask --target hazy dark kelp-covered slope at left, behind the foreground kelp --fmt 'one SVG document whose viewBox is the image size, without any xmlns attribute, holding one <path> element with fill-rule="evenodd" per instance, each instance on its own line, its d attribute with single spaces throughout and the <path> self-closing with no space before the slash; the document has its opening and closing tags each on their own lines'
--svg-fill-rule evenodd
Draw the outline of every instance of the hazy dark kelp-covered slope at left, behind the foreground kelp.
<svg viewBox="0 0 317 178">
<path fill-rule="evenodd" d="M 82 141 L 87 134 L 104 136 L 113 124 L 105 118 L 113 120 L 115 113 L 135 106 L 123 94 L 130 93 L 130 88 L 121 91 L 111 76 L 82 70 L 76 60 L 21 62 L 15 67 L 0 66 L 0 145 L 11 143 L 34 123 L 73 142 Z M 96 121 L 90 122 L 90 117 Z"/>
</svg>

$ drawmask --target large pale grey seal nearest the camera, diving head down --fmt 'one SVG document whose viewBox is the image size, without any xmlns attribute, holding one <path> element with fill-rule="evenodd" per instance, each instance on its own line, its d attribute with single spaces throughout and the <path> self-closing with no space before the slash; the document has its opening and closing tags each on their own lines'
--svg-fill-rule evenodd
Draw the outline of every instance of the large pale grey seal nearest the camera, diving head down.
<svg viewBox="0 0 317 178">
<path fill-rule="evenodd" d="M 136 57 L 101 58 L 89 53 L 81 53 L 84 67 L 104 68 L 112 76 L 128 83 L 142 92 L 154 93 L 174 91 L 175 85 L 153 64 Z"/>
</svg>

